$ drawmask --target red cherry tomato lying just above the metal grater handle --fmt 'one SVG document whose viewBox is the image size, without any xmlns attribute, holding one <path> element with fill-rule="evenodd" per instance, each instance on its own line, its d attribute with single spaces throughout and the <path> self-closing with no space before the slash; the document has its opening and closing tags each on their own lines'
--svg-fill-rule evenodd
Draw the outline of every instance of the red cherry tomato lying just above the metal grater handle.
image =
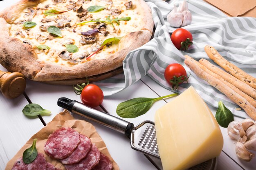
<svg viewBox="0 0 256 170">
<path fill-rule="evenodd" d="M 103 92 L 97 85 L 86 85 L 81 93 L 81 101 L 89 107 L 97 107 L 103 102 Z"/>
</svg>

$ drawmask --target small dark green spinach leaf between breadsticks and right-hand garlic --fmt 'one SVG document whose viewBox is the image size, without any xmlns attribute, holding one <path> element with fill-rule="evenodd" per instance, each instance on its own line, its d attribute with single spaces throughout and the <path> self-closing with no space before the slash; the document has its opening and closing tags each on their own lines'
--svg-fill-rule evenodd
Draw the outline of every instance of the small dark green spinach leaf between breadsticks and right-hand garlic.
<svg viewBox="0 0 256 170">
<path fill-rule="evenodd" d="M 231 111 L 225 107 L 222 101 L 219 101 L 218 105 L 219 107 L 217 109 L 215 118 L 220 126 L 227 128 L 229 123 L 234 121 L 234 116 Z"/>
</svg>

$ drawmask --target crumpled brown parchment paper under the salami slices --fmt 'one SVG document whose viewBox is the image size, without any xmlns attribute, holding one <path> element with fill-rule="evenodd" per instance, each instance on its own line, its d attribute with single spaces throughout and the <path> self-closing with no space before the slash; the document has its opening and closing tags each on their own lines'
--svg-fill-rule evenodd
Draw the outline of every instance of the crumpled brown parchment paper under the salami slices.
<svg viewBox="0 0 256 170">
<path fill-rule="evenodd" d="M 92 143 L 96 144 L 99 150 L 110 158 L 110 160 L 113 163 L 113 170 L 119 170 L 117 163 L 110 156 L 110 153 L 108 152 L 105 143 L 97 133 L 95 127 L 92 124 L 86 122 L 85 120 L 75 120 L 73 116 L 71 116 L 69 111 L 67 111 L 66 109 L 63 112 L 57 114 L 51 122 L 49 122 L 38 133 L 33 135 L 29 139 L 29 141 L 27 141 L 27 143 L 24 146 L 22 146 L 18 153 L 16 153 L 16 155 L 7 163 L 5 170 L 11 170 L 13 164 L 17 161 L 18 158 L 22 157 L 23 152 L 32 145 L 33 139 L 35 138 L 37 139 L 36 149 L 38 153 L 43 153 L 45 155 L 46 161 L 52 163 L 56 168 L 66 170 L 65 166 L 61 162 L 57 161 L 56 159 L 50 158 L 44 152 L 44 146 L 45 142 L 48 139 L 48 136 L 52 134 L 53 131 L 60 129 L 61 127 L 73 128 L 82 135 L 90 137 Z"/>
</svg>

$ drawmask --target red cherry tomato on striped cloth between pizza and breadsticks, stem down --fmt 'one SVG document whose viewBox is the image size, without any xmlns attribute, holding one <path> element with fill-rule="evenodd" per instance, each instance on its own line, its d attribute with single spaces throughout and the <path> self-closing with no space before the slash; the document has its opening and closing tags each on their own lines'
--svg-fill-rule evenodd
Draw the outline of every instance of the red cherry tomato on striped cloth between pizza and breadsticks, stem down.
<svg viewBox="0 0 256 170">
<path fill-rule="evenodd" d="M 164 71 L 165 80 L 172 85 L 173 89 L 177 89 L 179 84 L 187 81 L 186 70 L 179 63 L 173 63 L 166 67 Z"/>
</svg>

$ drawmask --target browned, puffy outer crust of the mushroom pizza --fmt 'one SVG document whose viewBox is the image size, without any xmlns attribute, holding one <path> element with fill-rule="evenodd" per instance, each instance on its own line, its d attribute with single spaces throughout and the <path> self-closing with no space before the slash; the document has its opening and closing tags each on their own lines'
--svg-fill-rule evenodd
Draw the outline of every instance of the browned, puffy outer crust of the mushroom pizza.
<svg viewBox="0 0 256 170">
<path fill-rule="evenodd" d="M 21 0 L 0 13 L 0 63 L 11 72 L 20 72 L 34 81 L 60 81 L 84 78 L 110 72 L 122 66 L 128 52 L 146 44 L 153 32 L 152 14 L 146 2 L 138 0 L 136 8 L 141 12 L 140 31 L 128 33 L 119 41 L 119 51 L 106 59 L 95 59 L 72 67 L 39 63 L 37 54 L 28 44 L 9 36 L 8 24 L 12 24 L 20 12 L 44 0 Z M 121 49 L 121 50 L 120 50 Z M 62 81 L 60 81 L 62 82 Z M 61 83 L 62 84 L 62 83 Z M 74 84 L 76 84 L 74 82 Z"/>
</svg>

